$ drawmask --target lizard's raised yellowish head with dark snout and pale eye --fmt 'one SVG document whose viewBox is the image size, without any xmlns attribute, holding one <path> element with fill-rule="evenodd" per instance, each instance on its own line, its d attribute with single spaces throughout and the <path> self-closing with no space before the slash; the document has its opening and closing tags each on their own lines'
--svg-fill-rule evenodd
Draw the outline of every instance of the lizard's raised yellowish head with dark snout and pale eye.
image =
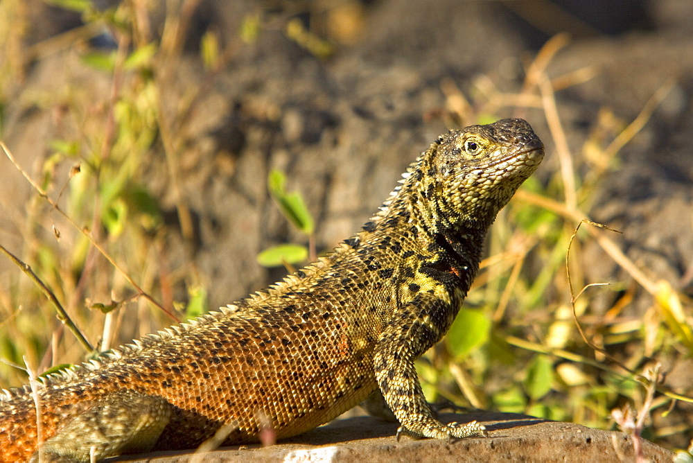
<svg viewBox="0 0 693 463">
<path fill-rule="evenodd" d="M 432 231 L 491 225 L 543 156 L 543 143 L 523 119 L 451 130 L 419 158 L 412 205 Z"/>
</svg>

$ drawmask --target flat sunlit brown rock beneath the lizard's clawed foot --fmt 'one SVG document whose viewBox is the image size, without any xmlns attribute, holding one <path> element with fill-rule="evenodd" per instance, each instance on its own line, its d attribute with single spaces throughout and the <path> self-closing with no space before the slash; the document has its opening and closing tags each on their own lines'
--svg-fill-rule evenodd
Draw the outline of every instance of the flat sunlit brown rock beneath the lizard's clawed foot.
<svg viewBox="0 0 693 463">
<path fill-rule="evenodd" d="M 484 423 L 489 437 L 455 441 L 394 437 L 398 425 L 374 417 L 337 419 L 274 446 L 229 447 L 204 454 L 204 462 L 623 462 L 634 461 L 632 437 L 579 424 L 513 413 L 441 414 L 441 421 Z M 673 453 L 642 439 L 650 462 L 670 462 Z M 157 452 L 114 459 L 119 462 L 182 463 L 192 452 Z"/>
</svg>

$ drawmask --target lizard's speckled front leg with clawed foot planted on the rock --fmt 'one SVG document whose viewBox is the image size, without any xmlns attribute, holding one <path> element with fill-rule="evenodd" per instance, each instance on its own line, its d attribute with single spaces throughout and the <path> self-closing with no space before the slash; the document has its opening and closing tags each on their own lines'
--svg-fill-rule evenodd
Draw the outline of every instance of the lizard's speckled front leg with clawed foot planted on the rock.
<svg viewBox="0 0 693 463">
<path fill-rule="evenodd" d="M 414 360 L 444 335 L 453 316 L 440 299 L 430 294 L 419 295 L 416 303 L 394 313 L 380 335 L 374 369 L 380 392 L 401 424 L 398 437 L 403 432 L 435 439 L 486 435 L 484 426 L 476 421 L 464 426 L 438 421 L 423 396 L 414 369 Z"/>
</svg>

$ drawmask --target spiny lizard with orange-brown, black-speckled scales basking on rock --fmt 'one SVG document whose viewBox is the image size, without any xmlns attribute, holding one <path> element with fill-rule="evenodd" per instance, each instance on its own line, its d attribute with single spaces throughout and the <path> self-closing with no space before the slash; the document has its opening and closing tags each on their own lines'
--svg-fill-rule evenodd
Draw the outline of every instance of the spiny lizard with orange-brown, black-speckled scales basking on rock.
<svg viewBox="0 0 693 463">
<path fill-rule="evenodd" d="M 523 119 L 439 136 L 360 231 L 246 299 L 0 393 L 0 461 L 85 462 L 304 433 L 382 394 L 401 433 L 438 421 L 414 360 L 441 340 L 498 211 L 543 159 Z M 37 399 L 35 401 L 34 399 Z M 40 437 L 37 414 L 40 410 Z"/>
</svg>

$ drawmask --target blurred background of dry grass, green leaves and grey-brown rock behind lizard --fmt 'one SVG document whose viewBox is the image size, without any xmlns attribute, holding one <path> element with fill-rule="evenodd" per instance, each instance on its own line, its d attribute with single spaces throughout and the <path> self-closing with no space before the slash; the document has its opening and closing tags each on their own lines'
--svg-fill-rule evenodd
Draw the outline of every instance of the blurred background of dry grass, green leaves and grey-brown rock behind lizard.
<svg viewBox="0 0 693 463">
<path fill-rule="evenodd" d="M 96 349 L 281 279 L 438 134 L 520 116 L 547 157 L 429 400 L 689 446 L 690 0 L 3 0 L 0 44 L 0 245 Z M 87 354 L 0 259 L 0 387 Z"/>
</svg>

